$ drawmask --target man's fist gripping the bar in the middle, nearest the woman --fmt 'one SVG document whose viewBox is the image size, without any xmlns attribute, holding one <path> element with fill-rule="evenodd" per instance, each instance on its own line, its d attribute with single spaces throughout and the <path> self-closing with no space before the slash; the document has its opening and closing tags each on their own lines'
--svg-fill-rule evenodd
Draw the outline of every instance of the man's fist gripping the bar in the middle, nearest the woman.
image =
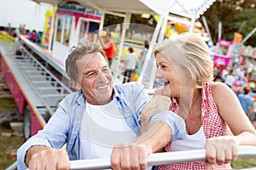
<svg viewBox="0 0 256 170">
<path fill-rule="evenodd" d="M 144 144 L 115 145 L 111 154 L 112 169 L 146 169 L 149 153 L 152 151 Z"/>
</svg>

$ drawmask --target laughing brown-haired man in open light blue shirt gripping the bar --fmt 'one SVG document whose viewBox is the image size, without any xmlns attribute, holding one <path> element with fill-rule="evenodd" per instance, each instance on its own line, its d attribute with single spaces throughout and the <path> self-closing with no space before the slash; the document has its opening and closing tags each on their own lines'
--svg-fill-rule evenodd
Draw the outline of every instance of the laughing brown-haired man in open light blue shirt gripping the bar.
<svg viewBox="0 0 256 170">
<path fill-rule="evenodd" d="M 142 153 L 140 157 L 129 156 L 146 168 L 145 150 L 159 150 L 169 138 L 155 143 L 152 139 L 158 139 L 161 133 L 141 135 L 140 115 L 149 100 L 143 85 L 137 82 L 113 85 L 105 53 L 91 42 L 79 43 L 72 49 L 66 71 L 77 91 L 61 101 L 43 130 L 20 146 L 18 169 L 69 169 L 69 160 L 109 158 L 114 145 L 127 142 L 135 144 L 125 147 Z M 148 132 L 155 127 L 160 127 L 161 132 L 171 131 L 168 123 L 163 122 L 154 122 Z M 177 138 L 178 135 L 172 139 Z M 66 143 L 66 150 L 61 149 Z M 119 156 L 112 156 L 112 160 L 119 160 Z M 132 162 L 119 166 L 131 167 Z"/>
</svg>

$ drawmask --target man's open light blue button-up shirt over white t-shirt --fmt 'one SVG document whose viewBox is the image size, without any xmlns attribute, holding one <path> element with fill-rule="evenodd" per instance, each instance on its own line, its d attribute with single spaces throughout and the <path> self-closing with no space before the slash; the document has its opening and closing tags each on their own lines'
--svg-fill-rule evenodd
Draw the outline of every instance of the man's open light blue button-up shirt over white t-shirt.
<svg viewBox="0 0 256 170">
<path fill-rule="evenodd" d="M 130 82 L 113 87 L 113 102 L 119 105 L 120 111 L 125 116 L 125 122 L 137 136 L 140 135 L 141 120 L 140 115 L 144 105 L 149 101 L 143 85 L 137 82 Z M 70 160 L 79 160 L 79 128 L 84 116 L 86 99 L 81 91 L 67 95 L 61 101 L 60 107 L 55 114 L 51 116 L 49 122 L 43 130 L 32 138 L 28 139 L 25 144 L 20 146 L 17 151 L 18 169 L 26 169 L 25 156 L 26 151 L 33 145 L 44 145 L 52 148 L 61 148 L 67 143 L 67 154 Z M 172 111 L 168 111 L 171 112 Z M 170 115 L 171 118 L 168 118 Z M 173 129 L 173 115 L 163 116 L 160 114 L 154 116 L 154 121 L 164 121 Z M 177 115 L 177 114 L 175 114 Z M 173 130 L 172 132 L 176 132 Z M 175 139 L 180 137 L 175 136 Z M 172 139 L 173 139 L 172 136 Z"/>
</svg>

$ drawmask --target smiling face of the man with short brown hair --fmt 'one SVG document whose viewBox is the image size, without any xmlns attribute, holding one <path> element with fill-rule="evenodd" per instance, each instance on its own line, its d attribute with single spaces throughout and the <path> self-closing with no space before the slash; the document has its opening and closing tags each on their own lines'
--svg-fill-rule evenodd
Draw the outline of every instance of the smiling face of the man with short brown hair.
<svg viewBox="0 0 256 170">
<path fill-rule="evenodd" d="M 76 61 L 79 86 L 92 105 L 104 105 L 112 100 L 113 77 L 108 62 L 101 53 L 86 54 Z"/>
</svg>

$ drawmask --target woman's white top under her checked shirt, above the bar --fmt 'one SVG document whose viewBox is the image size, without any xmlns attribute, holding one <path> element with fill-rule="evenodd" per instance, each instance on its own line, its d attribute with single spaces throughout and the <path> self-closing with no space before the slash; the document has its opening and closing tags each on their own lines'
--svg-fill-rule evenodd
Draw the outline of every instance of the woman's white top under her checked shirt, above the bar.
<svg viewBox="0 0 256 170">
<path fill-rule="evenodd" d="M 182 150 L 203 150 L 207 138 L 203 132 L 203 127 L 201 126 L 197 133 L 189 135 L 183 140 L 172 141 L 172 151 L 182 151 Z"/>
</svg>

